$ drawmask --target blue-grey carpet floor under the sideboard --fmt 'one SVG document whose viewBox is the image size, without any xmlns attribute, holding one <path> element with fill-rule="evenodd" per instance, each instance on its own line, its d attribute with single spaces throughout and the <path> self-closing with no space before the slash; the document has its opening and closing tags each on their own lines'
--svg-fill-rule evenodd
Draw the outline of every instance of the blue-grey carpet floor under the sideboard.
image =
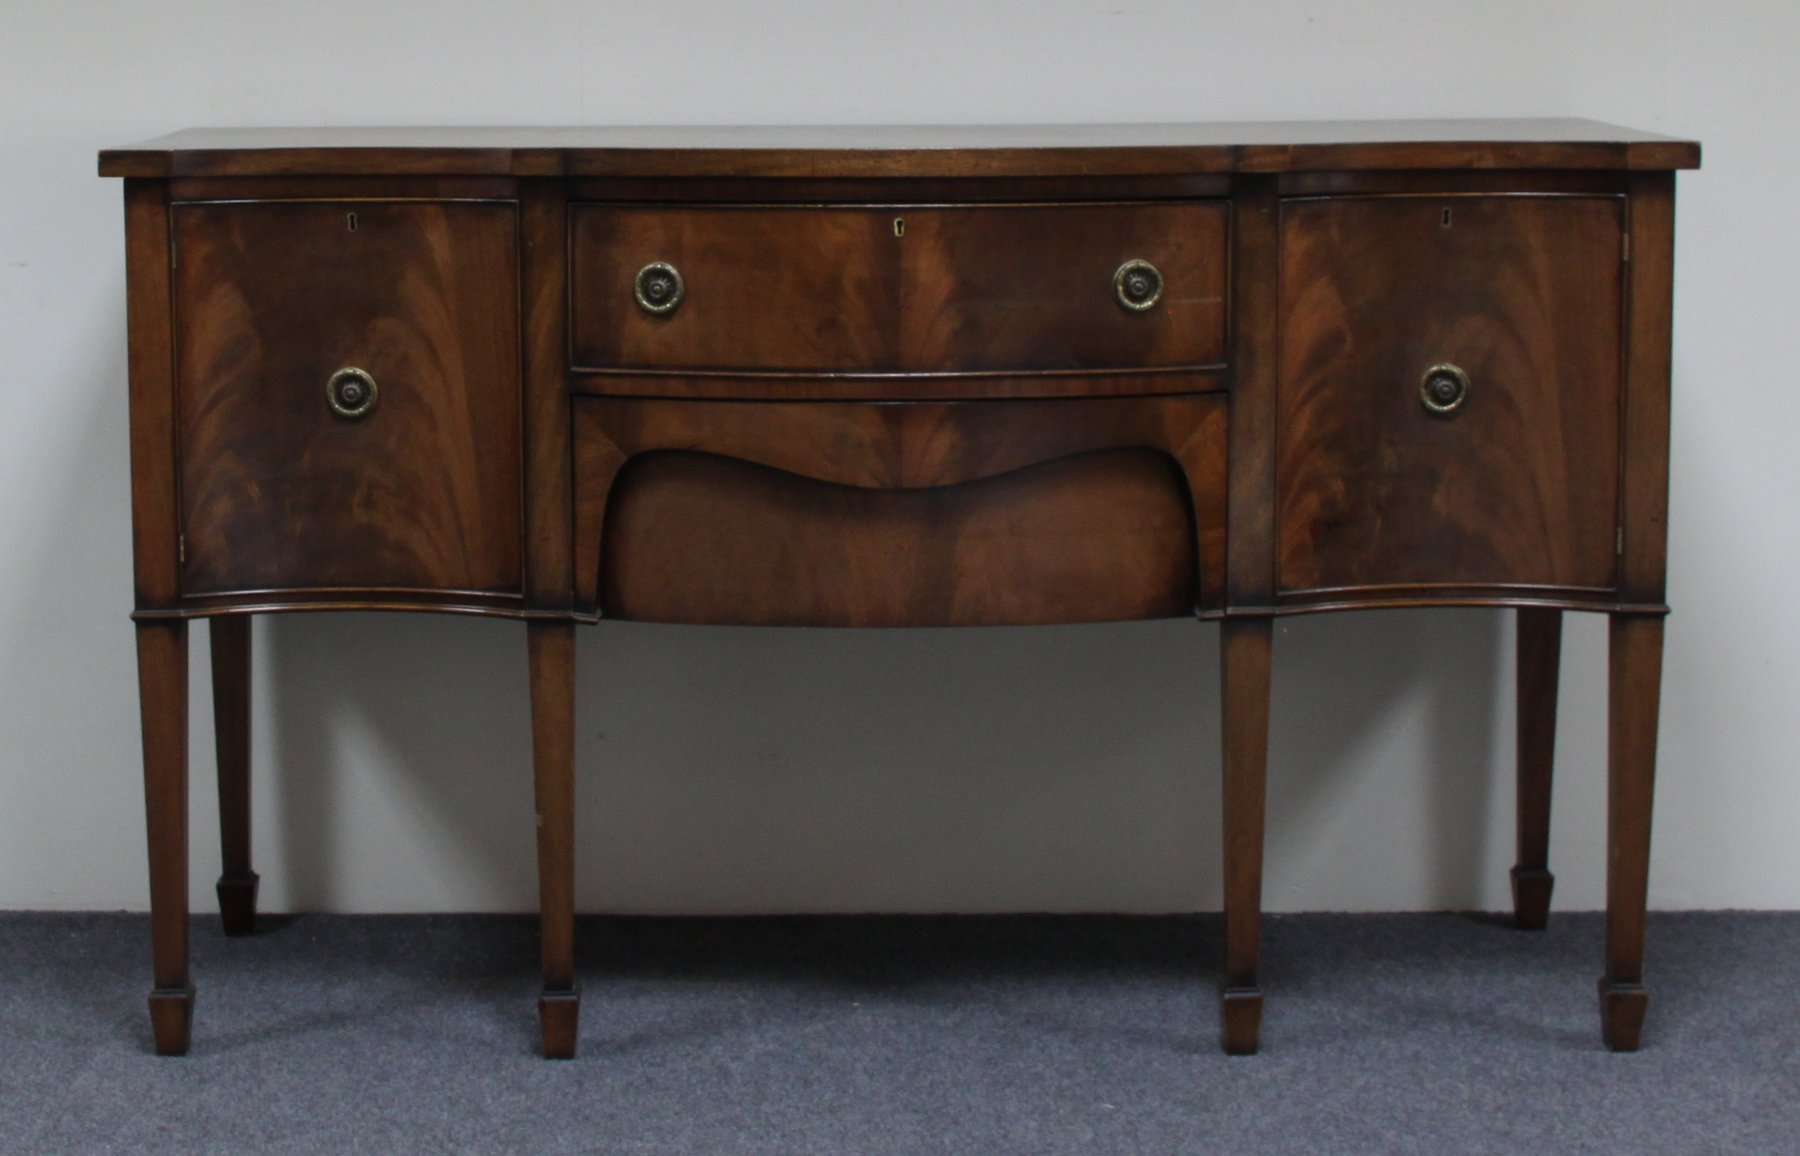
<svg viewBox="0 0 1800 1156">
<path fill-rule="evenodd" d="M 1285 917 L 1264 1050 L 1217 1050 L 1217 918 L 583 920 L 581 1053 L 535 1055 L 535 924 L 194 922 L 185 1059 L 148 927 L 0 917 L 5 1152 L 1800 1152 L 1800 915 L 1656 915 L 1636 1055 L 1600 918 Z"/>
</svg>

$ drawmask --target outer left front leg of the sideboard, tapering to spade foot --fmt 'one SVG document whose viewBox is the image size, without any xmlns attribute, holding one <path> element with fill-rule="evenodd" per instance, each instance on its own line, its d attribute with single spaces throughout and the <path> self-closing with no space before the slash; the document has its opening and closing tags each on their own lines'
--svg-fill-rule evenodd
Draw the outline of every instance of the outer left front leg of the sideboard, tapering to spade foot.
<svg viewBox="0 0 1800 1156">
<path fill-rule="evenodd" d="M 187 1055 L 194 985 L 187 980 L 187 623 L 137 623 L 149 841 L 149 945 L 157 1055 Z"/>
</svg>

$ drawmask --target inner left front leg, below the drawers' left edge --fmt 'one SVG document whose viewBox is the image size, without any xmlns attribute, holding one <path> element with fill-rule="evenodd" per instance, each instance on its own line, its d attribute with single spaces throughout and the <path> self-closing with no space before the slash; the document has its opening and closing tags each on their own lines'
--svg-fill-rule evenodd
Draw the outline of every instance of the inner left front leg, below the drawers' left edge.
<svg viewBox="0 0 1800 1156">
<path fill-rule="evenodd" d="M 531 756 L 538 805 L 538 908 L 544 1055 L 572 1059 L 581 996 L 574 987 L 574 625 L 533 621 Z"/>
</svg>

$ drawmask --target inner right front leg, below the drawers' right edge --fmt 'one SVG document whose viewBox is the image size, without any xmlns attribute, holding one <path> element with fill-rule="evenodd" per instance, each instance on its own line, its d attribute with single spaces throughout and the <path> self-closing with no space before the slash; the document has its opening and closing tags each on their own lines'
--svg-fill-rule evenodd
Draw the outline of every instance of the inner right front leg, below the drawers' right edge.
<svg viewBox="0 0 1800 1156">
<path fill-rule="evenodd" d="M 1224 1050 L 1256 1052 L 1262 1032 L 1262 837 L 1269 767 L 1269 618 L 1228 618 L 1220 628 L 1224 675 Z"/>
</svg>

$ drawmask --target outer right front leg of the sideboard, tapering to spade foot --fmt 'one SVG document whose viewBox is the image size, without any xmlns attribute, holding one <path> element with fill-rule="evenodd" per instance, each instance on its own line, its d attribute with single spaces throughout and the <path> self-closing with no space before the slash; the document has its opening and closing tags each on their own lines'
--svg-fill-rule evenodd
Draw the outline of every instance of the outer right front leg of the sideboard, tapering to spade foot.
<svg viewBox="0 0 1800 1156">
<path fill-rule="evenodd" d="M 1656 715 L 1663 682 L 1663 618 L 1613 614 L 1606 787 L 1606 974 L 1600 1032 L 1613 1052 L 1636 1052 L 1643 1028 L 1643 918 L 1651 882 Z"/>
</svg>

